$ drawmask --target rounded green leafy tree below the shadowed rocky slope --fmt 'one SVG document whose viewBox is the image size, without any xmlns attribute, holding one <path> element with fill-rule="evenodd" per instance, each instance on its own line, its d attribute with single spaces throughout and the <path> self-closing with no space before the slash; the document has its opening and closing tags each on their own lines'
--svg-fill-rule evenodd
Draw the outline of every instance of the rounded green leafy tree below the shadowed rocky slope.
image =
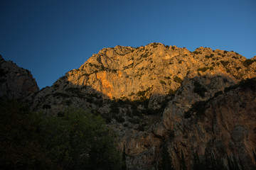
<svg viewBox="0 0 256 170">
<path fill-rule="evenodd" d="M 100 116 L 69 109 L 43 123 L 51 159 L 64 169 L 119 169 L 114 134 Z M 45 134 L 46 133 L 46 134 Z"/>
</svg>

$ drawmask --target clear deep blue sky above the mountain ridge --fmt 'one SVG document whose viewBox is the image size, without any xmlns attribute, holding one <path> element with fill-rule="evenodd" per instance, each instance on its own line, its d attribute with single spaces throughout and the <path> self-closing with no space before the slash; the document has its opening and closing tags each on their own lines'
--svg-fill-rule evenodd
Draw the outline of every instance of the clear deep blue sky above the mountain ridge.
<svg viewBox="0 0 256 170">
<path fill-rule="evenodd" d="M 0 54 L 51 86 L 92 54 L 151 42 L 256 55 L 255 0 L 0 0 Z"/>
</svg>

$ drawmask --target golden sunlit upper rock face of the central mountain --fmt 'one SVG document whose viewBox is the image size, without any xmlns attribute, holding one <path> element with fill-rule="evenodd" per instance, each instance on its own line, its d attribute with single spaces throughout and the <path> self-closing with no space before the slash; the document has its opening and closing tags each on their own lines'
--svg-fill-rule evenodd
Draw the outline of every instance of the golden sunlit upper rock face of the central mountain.
<svg viewBox="0 0 256 170">
<path fill-rule="evenodd" d="M 45 103 L 41 101 L 45 100 L 45 96 L 58 96 L 56 93 L 61 91 L 71 101 L 78 101 L 73 103 L 78 107 L 79 103 L 87 101 L 85 98 L 90 96 L 87 94 L 96 93 L 102 98 L 130 101 L 149 98 L 150 107 L 156 109 L 161 107 L 159 103 L 164 100 L 162 96 L 168 95 L 170 90 L 176 91 L 186 77 L 220 75 L 235 83 L 255 77 L 256 62 L 247 65 L 244 64 L 245 60 L 236 52 L 213 51 L 207 47 L 189 52 L 186 48 L 169 47 L 161 43 L 137 48 L 104 48 L 92 55 L 79 69 L 73 69 L 58 79 L 48 92 L 41 91 L 33 100 L 32 108 L 43 108 Z M 73 88 L 77 90 L 70 91 Z M 65 101 L 54 103 L 54 98 L 47 101 L 53 108 L 65 106 Z M 48 110 L 48 113 L 53 113 L 51 109 Z"/>
</svg>

